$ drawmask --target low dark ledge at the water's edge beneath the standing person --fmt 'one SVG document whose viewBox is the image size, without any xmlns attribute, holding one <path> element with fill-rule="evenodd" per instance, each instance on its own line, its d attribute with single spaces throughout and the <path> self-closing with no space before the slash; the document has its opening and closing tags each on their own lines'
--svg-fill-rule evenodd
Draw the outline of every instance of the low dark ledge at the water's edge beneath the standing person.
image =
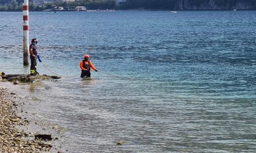
<svg viewBox="0 0 256 153">
<path fill-rule="evenodd" d="M 20 81 L 21 83 L 34 83 L 37 80 L 53 80 L 59 79 L 58 76 L 49 76 L 49 75 L 24 75 L 24 74 L 12 74 L 12 75 L 2 75 L 0 76 L 2 80 L 6 81 Z M 0 79 L 1 79 L 0 78 Z"/>
</svg>

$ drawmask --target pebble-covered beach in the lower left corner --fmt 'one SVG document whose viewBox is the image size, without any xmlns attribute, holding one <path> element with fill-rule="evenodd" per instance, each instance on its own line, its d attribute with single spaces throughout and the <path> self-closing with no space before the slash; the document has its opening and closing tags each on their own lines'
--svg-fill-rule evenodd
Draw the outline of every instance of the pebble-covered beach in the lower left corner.
<svg viewBox="0 0 256 153">
<path fill-rule="evenodd" d="M 19 126 L 29 126 L 30 121 L 18 117 L 18 107 L 24 102 L 9 89 L 0 87 L 0 152 L 49 152 L 52 144 L 35 138 Z"/>
</svg>

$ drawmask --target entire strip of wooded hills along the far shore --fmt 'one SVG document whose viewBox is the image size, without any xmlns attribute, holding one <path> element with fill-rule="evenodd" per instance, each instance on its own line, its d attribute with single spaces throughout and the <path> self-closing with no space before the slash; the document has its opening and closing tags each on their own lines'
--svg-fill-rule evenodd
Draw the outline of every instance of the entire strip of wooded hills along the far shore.
<svg viewBox="0 0 256 153">
<path fill-rule="evenodd" d="M 44 2 L 39 6 L 30 1 L 29 10 L 41 11 L 54 9 L 54 7 L 64 7 L 65 10 L 70 10 L 77 6 L 85 6 L 88 10 L 256 10 L 256 0 L 127 0 L 121 4 L 116 4 L 116 0 L 76 0 L 74 2 L 55 0 L 51 3 Z M 21 10 L 21 0 L 0 0 L 0 11 Z"/>
</svg>

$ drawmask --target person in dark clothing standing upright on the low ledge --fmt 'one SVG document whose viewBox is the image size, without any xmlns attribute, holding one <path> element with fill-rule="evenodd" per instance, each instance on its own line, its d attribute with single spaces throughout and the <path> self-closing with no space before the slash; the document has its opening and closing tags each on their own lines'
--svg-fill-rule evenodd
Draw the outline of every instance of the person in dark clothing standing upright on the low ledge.
<svg viewBox="0 0 256 153">
<path fill-rule="evenodd" d="M 37 72 L 37 38 L 34 38 L 31 40 L 31 44 L 29 46 L 29 53 L 30 53 L 30 60 L 31 60 L 31 66 L 30 66 L 30 75 L 37 75 L 39 74 Z"/>
</svg>

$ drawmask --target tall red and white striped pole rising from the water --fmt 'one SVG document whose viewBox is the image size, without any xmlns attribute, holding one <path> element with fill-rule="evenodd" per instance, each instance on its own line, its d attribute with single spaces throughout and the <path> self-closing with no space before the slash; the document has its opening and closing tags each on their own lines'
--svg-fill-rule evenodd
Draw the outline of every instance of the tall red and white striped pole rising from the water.
<svg viewBox="0 0 256 153">
<path fill-rule="evenodd" d="M 23 65 L 29 65 L 29 0 L 23 0 Z"/>
</svg>

